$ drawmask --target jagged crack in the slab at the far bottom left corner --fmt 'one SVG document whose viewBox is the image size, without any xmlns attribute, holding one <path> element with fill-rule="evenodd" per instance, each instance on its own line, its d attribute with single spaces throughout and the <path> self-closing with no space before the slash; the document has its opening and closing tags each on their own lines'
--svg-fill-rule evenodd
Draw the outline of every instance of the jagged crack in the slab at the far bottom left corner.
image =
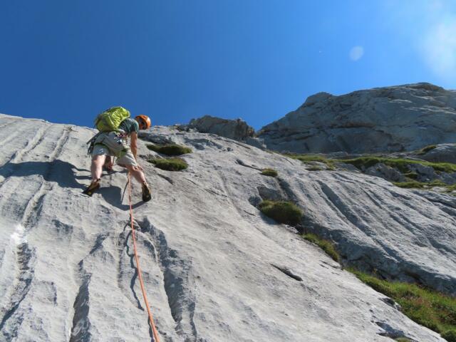
<svg viewBox="0 0 456 342">
<path fill-rule="evenodd" d="M 30 290 L 31 281 L 33 279 L 33 264 L 36 261 L 36 255 L 34 251 L 28 247 L 26 242 L 19 244 L 16 249 L 16 264 L 19 271 L 19 275 L 16 277 L 15 284 L 13 285 L 12 295 L 9 299 L 9 305 L 2 312 L 2 318 L 0 321 L 1 335 L 6 338 L 6 341 L 11 341 L 16 337 L 17 331 L 21 326 L 23 317 L 14 316 L 16 311 L 19 309 L 21 302 L 26 298 L 28 291 Z M 3 310 L 2 310 L 3 311 Z M 12 319 L 14 323 L 11 331 L 8 331 L 6 322 Z"/>
</svg>

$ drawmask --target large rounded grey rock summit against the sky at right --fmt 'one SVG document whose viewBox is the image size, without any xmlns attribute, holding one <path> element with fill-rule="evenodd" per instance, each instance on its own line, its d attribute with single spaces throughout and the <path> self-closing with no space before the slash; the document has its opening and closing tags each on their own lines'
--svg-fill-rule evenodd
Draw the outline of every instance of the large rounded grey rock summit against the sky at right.
<svg viewBox="0 0 456 342">
<path fill-rule="evenodd" d="M 318 93 L 258 133 L 270 150 L 399 152 L 456 141 L 456 91 L 429 83 Z"/>
</svg>

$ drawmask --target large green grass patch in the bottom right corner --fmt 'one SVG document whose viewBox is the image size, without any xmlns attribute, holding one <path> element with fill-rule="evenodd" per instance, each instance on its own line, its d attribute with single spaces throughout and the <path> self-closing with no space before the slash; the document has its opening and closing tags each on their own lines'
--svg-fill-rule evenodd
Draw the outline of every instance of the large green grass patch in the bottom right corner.
<svg viewBox="0 0 456 342">
<path fill-rule="evenodd" d="M 403 313 L 413 321 L 441 333 L 449 342 L 456 342 L 456 298 L 415 284 L 378 279 L 351 269 L 361 281 L 394 299 Z M 445 337 L 447 336 L 447 337 Z"/>
</svg>

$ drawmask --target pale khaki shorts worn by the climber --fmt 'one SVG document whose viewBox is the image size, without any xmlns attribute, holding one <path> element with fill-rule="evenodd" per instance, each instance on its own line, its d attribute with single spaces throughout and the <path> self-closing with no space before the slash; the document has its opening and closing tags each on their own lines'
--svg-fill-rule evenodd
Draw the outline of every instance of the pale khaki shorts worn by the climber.
<svg viewBox="0 0 456 342">
<path fill-rule="evenodd" d="M 137 166 L 135 156 L 130 146 L 126 145 L 123 137 L 115 132 L 101 133 L 93 145 L 92 159 L 95 155 L 110 155 L 117 157 L 117 164 Z"/>
</svg>

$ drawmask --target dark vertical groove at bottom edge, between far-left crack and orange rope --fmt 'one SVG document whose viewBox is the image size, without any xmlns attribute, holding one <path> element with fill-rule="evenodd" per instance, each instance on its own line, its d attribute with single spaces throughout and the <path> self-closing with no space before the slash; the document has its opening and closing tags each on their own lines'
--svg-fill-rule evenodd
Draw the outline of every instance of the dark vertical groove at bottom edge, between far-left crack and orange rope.
<svg viewBox="0 0 456 342">
<path fill-rule="evenodd" d="M 80 263 L 81 269 L 83 261 Z M 86 342 L 90 341 L 90 320 L 88 318 L 90 274 L 84 274 L 83 282 L 79 286 L 78 294 L 73 304 L 74 316 L 73 326 L 71 328 L 70 342 Z"/>
</svg>

